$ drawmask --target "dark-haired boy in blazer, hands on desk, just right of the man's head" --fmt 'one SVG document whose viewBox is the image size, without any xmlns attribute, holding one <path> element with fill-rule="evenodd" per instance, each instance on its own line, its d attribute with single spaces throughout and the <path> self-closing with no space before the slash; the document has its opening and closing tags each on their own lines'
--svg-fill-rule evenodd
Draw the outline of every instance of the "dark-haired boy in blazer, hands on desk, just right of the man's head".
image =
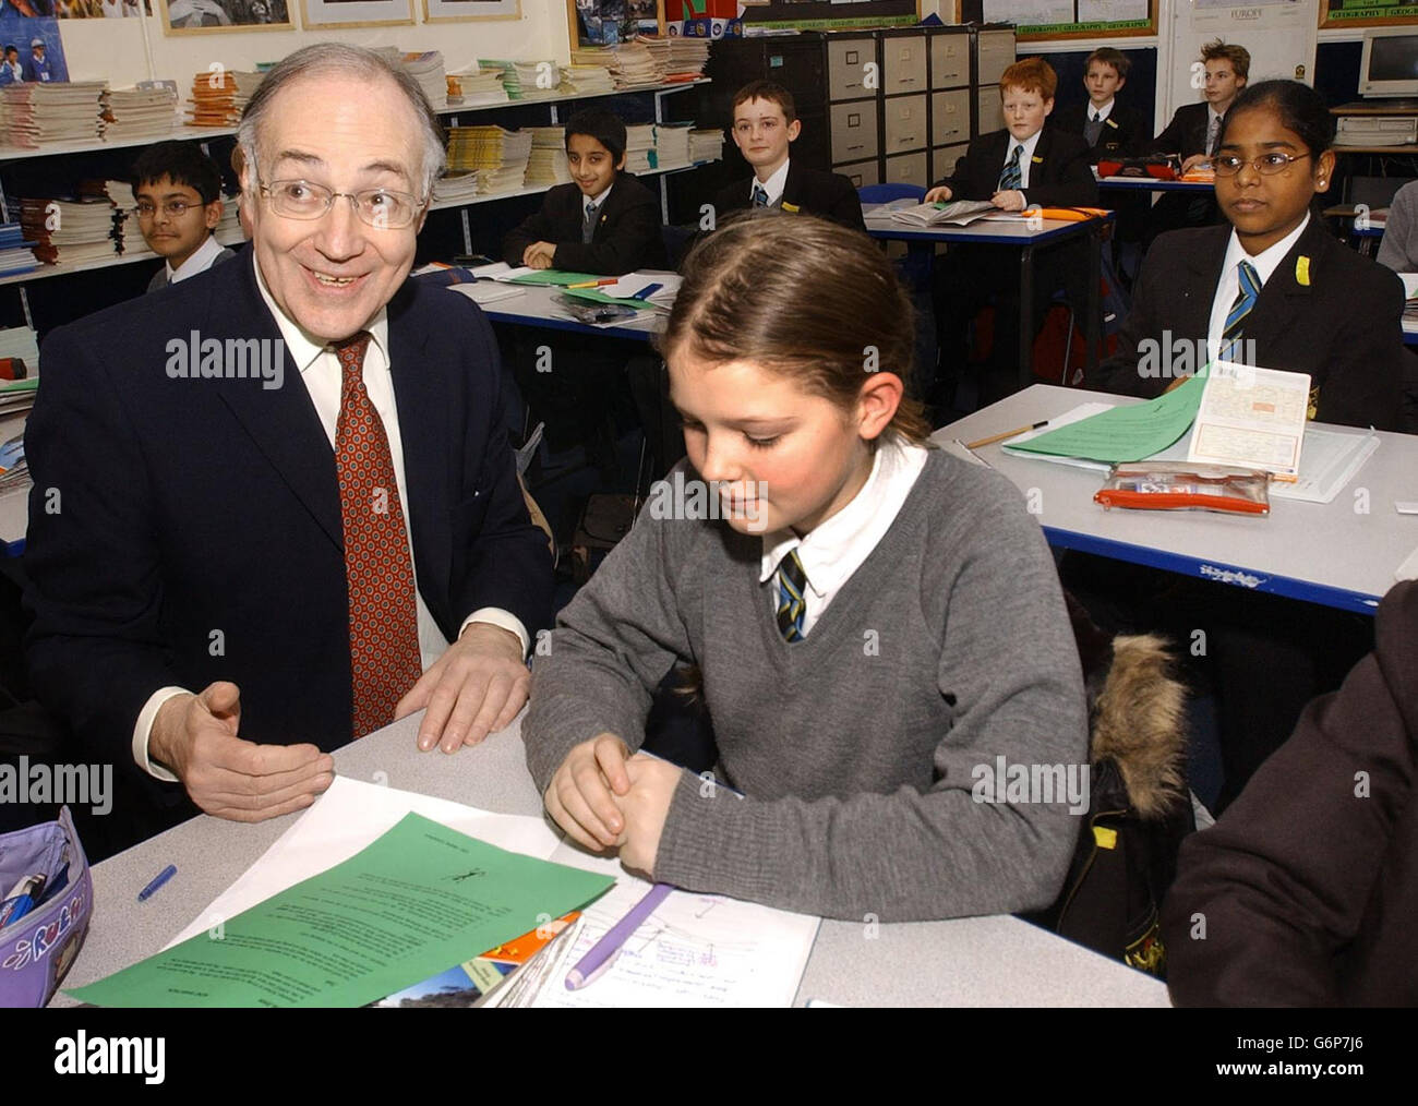
<svg viewBox="0 0 1418 1106">
<path fill-rule="evenodd" d="M 620 276 L 662 268 L 659 197 L 625 169 L 625 123 L 586 109 L 566 123 L 571 183 L 547 191 L 542 210 L 502 240 L 509 265 Z"/>
</svg>

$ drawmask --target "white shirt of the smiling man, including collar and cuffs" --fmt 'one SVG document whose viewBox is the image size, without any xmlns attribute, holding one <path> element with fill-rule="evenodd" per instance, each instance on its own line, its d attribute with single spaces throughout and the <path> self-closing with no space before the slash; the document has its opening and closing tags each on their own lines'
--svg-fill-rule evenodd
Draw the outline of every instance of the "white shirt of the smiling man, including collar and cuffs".
<svg viewBox="0 0 1418 1106">
<path fill-rule="evenodd" d="M 315 406 L 316 415 L 320 418 L 325 435 L 329 438 L 330 449 L 335 449 L 335 431 L 339 423 L 340 387 L 343 383 L 339 356 L 330 346 L 322 345 L 316 339 L 311 337 L 299 326 L 296 326 L 292 319 L 286 318 L 286 315 L 271 298 L 265 279 L 261 276 L 261 267 L 255 262 L 252 262 L 252 265 L 255 268 L 257 288 L 261 291 L 261 298 L 265 301 L 277 326 L 281 329 L 281 337 L 285 342 L 285 349 L 289 352 L 291 360 L 301 373 L 305 390 L 311 397 L 311 403 Z M 364 389 L 369 393 L 370 403 L 374 404 L 374 411 L 384 424 L 384 435 L 389 438 L 389 452 L 394 462 L 394 481 L 398 484 L 398 503 L 404 512 L 404 530 L 408 540 L 410 567 L 414 570 L 418 654 L 424 671 L 427 672 L 448 649 L 448 639 L 444 637 L 442 630 L 438 628 L 438 622 L 428 611 L 424 597 L 417 591 L 418 569 L 413 559 L 413 527 L 408 523 L 408 481 L 404 476 L 404 445 L 398 427 L 398 407 L 394 401 L 394 377 L 389 370 L 387 312 L 381 309 L 366 329 L 369 330 L 372 340 L 369 343 L 369 350 L 364 353 Z M 491 622 L 492 625 L 516 634 L 518 639 L 522 642 L 522 654 L 523 657 L 526 655 L 527 647 L 530 645 L 530 637 L 527 635 L 526 627 L 522 625 L 522 620 L 510 611 L 505 611 L 499 607 L 481 607 L 462 620 L 462 625 L 458 628 L 458 632 L 462 634 L 462 631 L 468 628 L 469 622 Z M 173 696 L 183 695 L 186 692 L 187 688 L 159 688 L 149 696 L 143 709 L 138 715 L 136 725 L 133 726 L 133 760 L 138 761 L 138 764 L 149 776 L 170 783 L 176 781 L 177 777 L 149 759 L 147 742 L 152 736 L 153 722 L 157 719 L 157 710 L 162 705 Z"/>
</svg>

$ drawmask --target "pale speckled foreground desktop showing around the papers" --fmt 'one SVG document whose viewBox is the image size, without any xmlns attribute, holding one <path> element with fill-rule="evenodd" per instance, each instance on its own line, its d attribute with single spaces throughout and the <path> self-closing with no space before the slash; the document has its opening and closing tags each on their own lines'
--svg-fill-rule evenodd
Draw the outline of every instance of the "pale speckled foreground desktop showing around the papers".
<svg viewBox="0 0 1418 1106">
<path fill-rule="evenodd" d="M 335 753 L 336 770 L 503 814 L 536 815 L 515 722 L 448 757 L 414 749 L 417 719 L 396 722 Z M 383 776 L 377 776 L 383 773 Z M 206 815 L 94 868 L 94 917 L 65 984 L 79 987 L 159 951 L 299 815 L 245 825 Z M 177 875 L 139 905 L 166 865 Z M 794 1005 L 1167 1005 L 1157 980 L 1010 916 L 881 925 L 824 922 Z M 52 1005 L 74 1005 L 60 994 Z"/>
</svg>

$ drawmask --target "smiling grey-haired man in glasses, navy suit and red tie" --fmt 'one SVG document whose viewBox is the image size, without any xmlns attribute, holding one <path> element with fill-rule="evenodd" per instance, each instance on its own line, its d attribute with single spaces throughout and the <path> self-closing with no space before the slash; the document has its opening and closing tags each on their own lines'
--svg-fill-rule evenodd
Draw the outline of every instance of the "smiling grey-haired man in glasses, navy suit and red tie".
<svg viewBox="0 0 1418 1106">
<path fill-rule="evenodd" d="M 420 749 L 481 740 L 550 614 L 488 323 L 407 281 L 442 166 L 417 84 L 306 47 L 238 140 L 252 248 L 50 335 L 28 424 L 34 686 L 166 821 L 306 807 L 423 708 Z"/>
</svg>

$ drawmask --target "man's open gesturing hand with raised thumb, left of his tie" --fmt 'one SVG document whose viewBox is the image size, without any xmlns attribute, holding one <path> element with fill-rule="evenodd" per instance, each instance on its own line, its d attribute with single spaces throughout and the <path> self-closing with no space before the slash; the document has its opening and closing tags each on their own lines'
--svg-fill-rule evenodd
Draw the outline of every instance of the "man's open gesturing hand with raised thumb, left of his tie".
<svg viewBox="0 0 1418 1106">
<path fill-rule="evenodd" d="M 237 736 L 235 683 L 208 683 L 157 710 L 150 759 L 183 781 L 191 801 L 217 818 L 259 822 L 309 807 L 335 781 L 335 761 L 313 744 L 257 744 Z"/>
</svg>

